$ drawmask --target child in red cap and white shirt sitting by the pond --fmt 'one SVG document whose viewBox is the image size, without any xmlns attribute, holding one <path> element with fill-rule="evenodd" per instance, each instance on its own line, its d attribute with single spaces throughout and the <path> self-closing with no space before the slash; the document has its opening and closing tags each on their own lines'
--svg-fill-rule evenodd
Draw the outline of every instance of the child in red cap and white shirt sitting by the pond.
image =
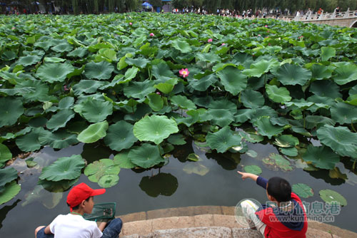
<svg viewBox="0 0 357 238">
<path fill-rule="evenodd" d="M 94 206 L 93 197 L 102 195 L 105 189 L 93 190 L 82 182 L 74 186 L 67 196 L 67 205 L 70 213 L 60 214 L 47 227 L 37 227 L 36 238 L 118 238 L 123 222 L 120 218 L 110 222 L 101 222 L 99 227 L 96 222 L 87 221 L 82 216 L 84 213 L 91 214 Z"/>
</svg>

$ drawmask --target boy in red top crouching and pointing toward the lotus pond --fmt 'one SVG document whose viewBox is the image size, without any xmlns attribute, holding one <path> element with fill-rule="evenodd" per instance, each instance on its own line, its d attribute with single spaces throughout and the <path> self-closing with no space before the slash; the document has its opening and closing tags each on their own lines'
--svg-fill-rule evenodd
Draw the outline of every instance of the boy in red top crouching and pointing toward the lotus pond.
<svg viewBox="0 0 357 238">
<path fill-rule="evenodd" d="M 258 207 L 250 200 L 241 202 L 243 214 L 251 228 L 256 227 L 266 238 L 306 238 L 308 219 L 298 195 L 291 192 L 291 185 L 281 177 L 263 177 L 239 172 L 242 179 L 250 178 L 266 189 L 269 205 Z"/>
</svg>

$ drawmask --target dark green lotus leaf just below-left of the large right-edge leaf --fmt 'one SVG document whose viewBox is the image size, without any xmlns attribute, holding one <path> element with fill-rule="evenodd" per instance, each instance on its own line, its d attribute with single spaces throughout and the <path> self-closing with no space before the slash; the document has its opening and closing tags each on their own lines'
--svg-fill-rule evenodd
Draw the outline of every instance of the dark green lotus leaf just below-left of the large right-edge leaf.
<svg viewBox="0 0 357 238">
<path fill-rule="evenodd" d="M 303 160 L 311 162 L 315 167 L 331 170 L 340 161 L 340 157 L 327 146 L 308 145 Z"/>
</svg>

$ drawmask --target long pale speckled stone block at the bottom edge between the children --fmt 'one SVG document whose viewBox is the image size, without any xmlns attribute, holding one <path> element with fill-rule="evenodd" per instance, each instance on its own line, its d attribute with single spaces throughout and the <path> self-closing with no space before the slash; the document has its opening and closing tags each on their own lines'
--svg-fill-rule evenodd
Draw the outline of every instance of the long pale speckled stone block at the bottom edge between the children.
<svg viewBox="0 0 357 238">
<path fill-rule="evenodd" d="M 193 227 L 166 229 L 154 232 L 153 238 L 232 238 L 232 231 L 226 227 Z"/>
</svg>

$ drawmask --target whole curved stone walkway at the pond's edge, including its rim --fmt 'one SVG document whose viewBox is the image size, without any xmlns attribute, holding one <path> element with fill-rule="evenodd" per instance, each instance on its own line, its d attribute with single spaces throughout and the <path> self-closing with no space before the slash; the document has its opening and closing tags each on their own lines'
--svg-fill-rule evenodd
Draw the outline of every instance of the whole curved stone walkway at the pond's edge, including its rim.
<svg viewBox="0 0 357 238">
<path fill-rule="evenodd" d="M 124 222 L 120 237 L 261 237 L 242 229 L 236 222 L 234 207 L 203 206 L 157 209 L 120 216 Z M 319 222 L 308 223 L 308 238 L 357 238 L 357 233 Z"/>
</svg>

